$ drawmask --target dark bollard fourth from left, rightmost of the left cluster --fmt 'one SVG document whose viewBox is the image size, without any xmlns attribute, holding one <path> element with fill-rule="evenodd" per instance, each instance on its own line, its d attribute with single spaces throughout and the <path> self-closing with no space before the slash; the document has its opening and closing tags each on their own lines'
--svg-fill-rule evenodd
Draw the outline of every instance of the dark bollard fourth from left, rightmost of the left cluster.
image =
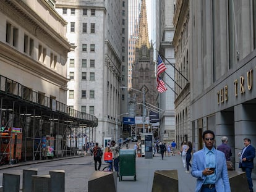
<svg viewBox="0 0 256 192">
<path fill-rule="evenodd" d="M 50 170 L 51 191 L 65 192 L 65 170 Z"/>
</svg>

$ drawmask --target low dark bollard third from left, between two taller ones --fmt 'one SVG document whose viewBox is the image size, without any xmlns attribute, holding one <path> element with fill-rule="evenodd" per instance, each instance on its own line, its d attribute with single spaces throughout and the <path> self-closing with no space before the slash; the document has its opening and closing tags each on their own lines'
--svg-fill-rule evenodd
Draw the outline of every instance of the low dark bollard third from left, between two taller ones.
<svg viewBox="0 0 256 192">
<path fill-rule="evenodd" d="M 33 175 L 32 192 L 51 192 L 51 176 Z"/>
</svg>

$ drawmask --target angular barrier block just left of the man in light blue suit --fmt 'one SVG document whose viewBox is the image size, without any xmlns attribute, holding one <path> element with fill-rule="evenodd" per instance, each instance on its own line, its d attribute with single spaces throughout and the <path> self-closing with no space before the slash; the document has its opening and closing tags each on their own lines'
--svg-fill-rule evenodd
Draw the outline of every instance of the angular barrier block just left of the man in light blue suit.
<svg viewBox="0 0 256 192">
<path fill-rule="evenodd" d="M 177 170 L 156 170 L 152 192 L 179 192 Z"/>
</svg>

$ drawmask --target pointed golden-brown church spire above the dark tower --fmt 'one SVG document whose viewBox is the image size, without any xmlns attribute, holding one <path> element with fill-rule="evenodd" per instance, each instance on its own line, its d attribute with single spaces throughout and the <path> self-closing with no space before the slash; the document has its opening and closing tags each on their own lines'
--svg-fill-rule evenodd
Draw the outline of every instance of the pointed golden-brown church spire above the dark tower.
<svg viewBox="0 0 256 192">
<path fill-rule="evenodd" d="M 142 45 L 150 48 L 148 41 L 148 22 L 147 22 L 147 7 L 146 0 L 142 0 L 142 6 L 140 7 L 140 20 L 139 20 L 139 40 L 137 41 L 137 48 L 141 48 Z"/>
</svg>

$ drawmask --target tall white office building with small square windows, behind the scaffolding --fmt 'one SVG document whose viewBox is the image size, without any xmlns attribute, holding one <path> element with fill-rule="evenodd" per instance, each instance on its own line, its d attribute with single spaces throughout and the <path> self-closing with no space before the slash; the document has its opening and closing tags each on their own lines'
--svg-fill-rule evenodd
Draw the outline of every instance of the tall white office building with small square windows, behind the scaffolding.
<svg viewBox="0 0 256 192">
<path fill-rule="evenodd" d="M 67 104 L 94 114 L 94 141 L 118 139 L 127 113 L 127 0 L 57 1 L 67 21 L 67 38 L 75 49 L 68 55 Z M 89 130 L 87 130 L 89 131 Z M 117 136 L 117 138 L 116 138 Z"/>
</svg>

